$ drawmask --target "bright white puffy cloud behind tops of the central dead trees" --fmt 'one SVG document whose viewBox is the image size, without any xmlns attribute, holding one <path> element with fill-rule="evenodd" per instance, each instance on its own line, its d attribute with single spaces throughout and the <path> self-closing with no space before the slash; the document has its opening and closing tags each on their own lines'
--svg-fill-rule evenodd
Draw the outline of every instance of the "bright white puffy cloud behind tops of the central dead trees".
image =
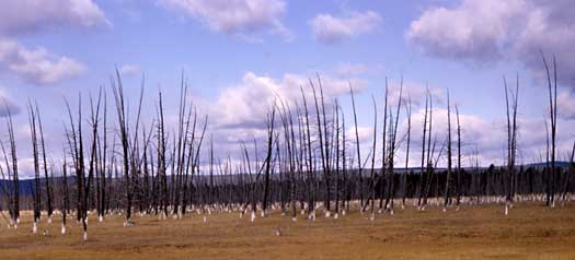
<svg viewBox="0 0 575 260">
<path fill-rule="evenodd" d="M 215 115 L 214 118 L 221 127 L 261 128 L 266 114 L 275 102 L 284 101 L 291 106 L 296 101 L 299 105 L 302 104 L 300 86 L 303 87 L 308 105 L 311 105 L 313 94 L 309 86 L 309 79 L 295 73 L 286 73 L 281 79 L 274 79 L 246 72 L 240 84 L 220 93 L 214 105 L 215 111 L 210 115 Z M 318 84 L 314 78 L 311 79 L 314 84 Z M 321 82 L 326 102 L 331 102 L 333 96 L 349 92 L 347 80 L 322 75 Z M 356 91 L 367 85 L 367 82 L 359 79 L 352 79 L 350 82 Z"/>
</svg>

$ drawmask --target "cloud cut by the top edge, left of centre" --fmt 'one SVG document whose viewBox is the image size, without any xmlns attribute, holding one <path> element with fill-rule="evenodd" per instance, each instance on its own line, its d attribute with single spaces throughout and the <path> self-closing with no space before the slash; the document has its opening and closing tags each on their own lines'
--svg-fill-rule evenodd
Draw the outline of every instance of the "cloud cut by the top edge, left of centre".
<svg viewBox="0 0 575 260">
<path fill-rule="evenodd" d="M 262 31 L 286 40 L 294 37 L 280 22 L 286 11 L 283 0 L 159 0 L 159 3 L 215 32 L 252 39 Z"/>
</svg>

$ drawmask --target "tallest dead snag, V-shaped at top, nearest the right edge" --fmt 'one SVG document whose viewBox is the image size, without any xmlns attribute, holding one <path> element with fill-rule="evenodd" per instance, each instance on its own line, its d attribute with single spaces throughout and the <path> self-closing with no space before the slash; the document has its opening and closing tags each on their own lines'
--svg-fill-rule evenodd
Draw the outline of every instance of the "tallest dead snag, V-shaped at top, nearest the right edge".
<svg viewBox="0 0 575 260">
<path fill-rule="evenodd" d="M 553 79 L 551 79 L 551 72 L 549 64 L 545 60 L 545 57 L 541 54 L 541 58 L 543 59 L 543 64 L 545 66 L 545 72 L 547 72 L 547 81 L 548 81 L 548 90 L 549 90 L 549 120 L 551 125 L 551 150 L 550 150 L 550 158 L 551 158 L 551 169 L 550 169 L 550 178 L 548 178 L 548 194 L 545 204 L 548 206 L 554 208 L 555 206 L 555 186 L 556 186 L 556 168 L 555 168 L 555 138 L 556 138 L 556 129 L 557 129 L 557 68 L 555 62 L 555 56 L 553 56 Z"/>
</svg>

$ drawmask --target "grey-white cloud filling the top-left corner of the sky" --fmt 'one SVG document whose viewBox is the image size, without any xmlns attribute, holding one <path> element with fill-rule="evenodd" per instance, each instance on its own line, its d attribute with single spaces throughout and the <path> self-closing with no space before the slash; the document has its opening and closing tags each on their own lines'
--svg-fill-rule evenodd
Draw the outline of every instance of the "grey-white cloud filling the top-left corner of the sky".
<svg viewBox="0 0 575 260">
<path fill-rule="evenodd" d="M 91 28 L 110 24 L 92 0 L 0 1 L 0 34 L 7 36 L 61 26 Z"/>
</svg>

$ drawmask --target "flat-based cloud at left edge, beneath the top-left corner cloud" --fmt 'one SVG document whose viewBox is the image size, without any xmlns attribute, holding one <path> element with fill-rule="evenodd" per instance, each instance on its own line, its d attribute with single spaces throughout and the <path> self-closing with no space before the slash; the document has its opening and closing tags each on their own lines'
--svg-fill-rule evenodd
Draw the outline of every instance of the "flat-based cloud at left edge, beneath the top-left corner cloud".
<svg viewBox="0 0 575 260">
<path fill-rule="evenodd" d="M 26 49 L 19 43 L 0 38 L 0 71 L 10 71 L 34 84 L 50 84 L 74 78 L 84 71 L 78 61 L 38 47 Z"/>
</svg>

